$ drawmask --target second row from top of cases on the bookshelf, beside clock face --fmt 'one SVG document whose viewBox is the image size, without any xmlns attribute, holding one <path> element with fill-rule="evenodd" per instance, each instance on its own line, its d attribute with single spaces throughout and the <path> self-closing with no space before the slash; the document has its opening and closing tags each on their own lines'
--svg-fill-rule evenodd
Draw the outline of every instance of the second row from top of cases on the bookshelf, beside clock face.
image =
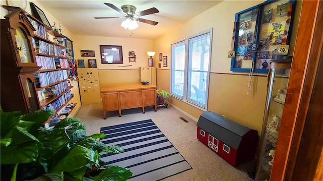
<svg viewBox="0 0 323 181">
<path fill-rule="evenodd" d="M 37 53 L 62 56 L 62 49 L 58 45 L 47 43 L 35 38 L 33 38 L 33 45 Z"/>
</svg>

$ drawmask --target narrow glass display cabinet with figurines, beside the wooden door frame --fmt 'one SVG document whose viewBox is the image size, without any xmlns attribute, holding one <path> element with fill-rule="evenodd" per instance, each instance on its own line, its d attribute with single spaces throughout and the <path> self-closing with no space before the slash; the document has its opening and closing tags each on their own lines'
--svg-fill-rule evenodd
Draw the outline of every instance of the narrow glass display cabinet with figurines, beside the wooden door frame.
<svg viewBox="0 0 323 181">
<path fill-rule="evenodd" d="M 267 100 L 263 117 L 256 180 L 270 180 L 280 131 L 292 58 L 269 61 Z"/>
</svg>

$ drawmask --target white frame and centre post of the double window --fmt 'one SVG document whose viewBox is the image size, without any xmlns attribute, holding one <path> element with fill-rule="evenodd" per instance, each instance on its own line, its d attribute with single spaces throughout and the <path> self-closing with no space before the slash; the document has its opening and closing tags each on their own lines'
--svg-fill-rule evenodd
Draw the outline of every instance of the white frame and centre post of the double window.
<svg viewBox="0 0 323 181">
<path fill-rule="evenodd" d="M 207 75 L 206 75 L 206 88 L 205 88 L 205 105 L 203 104 L 200 104 L 199 102 L 197 101 L 194 101 L 190 98 L 188 98 L 188 77 L 189 77 L 189 54 L 188 54 L 188 48 L 189 48 L 189 40 L 191 39 L 194 39 L 196 37 L 199 37 L 199 36 L 203 36 L 205 34 L 209 34 L 209 38 L 210 38 L 210 45 L 209 45 L 209 62 L 208 62 L 208 68 L 207 68 Z M 212 37 L 213 37 L 213 28 L 210 28 L 210 29 L 207 29 L 207 30 L 204 30 L 202 32 L 199 32 L 199 33 L 196 33 L 194 35 L 191 35 L 189 37 L 186 37 L 184 39 L 181 39 L 179 41 L 176 41 L 174 43 L 171 44 L 171 57 L 172 57 L 172 61 L 171 61 L 171 66 L 170 66 L 170 92 L 171 92 L 171 96 L 178 99 L 178 100 L 181 100 L 191 106 L 194 106 L 198 109 L 201 109 L 203 111 L 207 110 L 207 104 L 208 104 L 208 92 L 209 92 L 209 78 L 210 78 L 210 68 L 211 68 L 211 54 L 212 54 Z M 183 96 L 181 95 L 178 95 L 178 94 L 174 94 L 173 92 L 173 81 L 174 81 L 174 77 L 173 77 L 173 71 L 174 71 L 174 56 L 173 56 L 173 46 L 175 45 L 180 45 L 180 44 L 183 44 L 185 45 L 185 59 L 184 59 L 184 85 L 183 85 Z M 191 70 L 192 72 L 192 70 Z M 200 71 L 200 72 L 203 72 L 203 71 Z"/>
</svg>

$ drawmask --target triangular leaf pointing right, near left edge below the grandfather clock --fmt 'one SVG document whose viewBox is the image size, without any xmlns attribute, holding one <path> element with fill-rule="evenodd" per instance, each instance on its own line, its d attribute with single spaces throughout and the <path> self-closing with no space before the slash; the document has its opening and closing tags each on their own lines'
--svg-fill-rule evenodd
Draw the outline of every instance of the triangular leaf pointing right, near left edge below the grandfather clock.
<svg viewBox="0 0 323 181">
<path fill-rule="evenodd" d="M 28 131 L 25 128 L 15 126 L 12 130 L 12 139 L 13 143 L 15 145 L 29 142 L 29 141 L 38 141 L 36 137 L 34 137 L 32 134 L 28 133 Z"/>
</svg>

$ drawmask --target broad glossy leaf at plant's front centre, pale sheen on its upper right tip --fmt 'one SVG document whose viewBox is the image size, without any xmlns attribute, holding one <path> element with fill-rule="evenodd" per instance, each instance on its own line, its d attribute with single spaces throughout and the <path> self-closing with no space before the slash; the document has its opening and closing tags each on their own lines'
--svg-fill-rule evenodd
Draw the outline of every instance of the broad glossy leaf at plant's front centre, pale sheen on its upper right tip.
<svg viewBox="0 0 323 181">
<path fill-rule="evenodd" d="M 71 172 L 84 167 L 88 163 L 94 164 L 96 159 L 93 150 L 76 145 L 59 160 L 58 164 L 51 169 L 51 172 Z"/>
</svg>

